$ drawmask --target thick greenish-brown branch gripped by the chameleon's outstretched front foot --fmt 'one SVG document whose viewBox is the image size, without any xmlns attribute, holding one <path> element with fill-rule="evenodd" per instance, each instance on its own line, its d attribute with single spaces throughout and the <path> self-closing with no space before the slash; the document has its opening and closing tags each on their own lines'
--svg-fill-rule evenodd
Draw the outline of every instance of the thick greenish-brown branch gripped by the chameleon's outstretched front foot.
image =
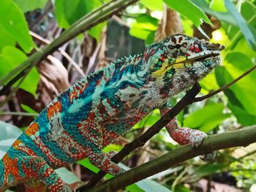
<svg viewBox="0 0 256 192">
<path fill-rule="evenodd" d="M 238 131 L 230 131 L 223 134 L 215 134 L 204 139 L 199 147 L 190 147 L 189 145 L 179 147 L 159 158 L 148 161 L 146 164 L 142 164 L 124 172 L 124 174 L 113 177 L 102 185 L 91 188 L 88 191 L 118 191 L 118 189 L 125 188 L 127 185 L 162 172 L 170 168 L 170 166 L 187 161 L 189 158 L 193 158 L 197 155 L 203 155 L 214 150 L 230 147 L 245 147 L 253 142 L 256 142 L 256 126 L 241 128 Z M 118 183 L 118 185 L 116 185 L 116 183 Z"/>
</svg>

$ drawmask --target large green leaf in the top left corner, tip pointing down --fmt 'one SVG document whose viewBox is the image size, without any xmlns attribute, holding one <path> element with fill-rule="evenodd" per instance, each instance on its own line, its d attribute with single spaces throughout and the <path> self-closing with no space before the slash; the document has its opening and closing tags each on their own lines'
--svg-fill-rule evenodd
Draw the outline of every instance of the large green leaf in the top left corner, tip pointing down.
<svg viewBox="0 0 256 192">
<path fill-rule="evenodd" d="M 35 46 L 23 12 L 11 0 L 0 1 L 0 28 L 4 28 L 26 53 Z"/>
</svg>

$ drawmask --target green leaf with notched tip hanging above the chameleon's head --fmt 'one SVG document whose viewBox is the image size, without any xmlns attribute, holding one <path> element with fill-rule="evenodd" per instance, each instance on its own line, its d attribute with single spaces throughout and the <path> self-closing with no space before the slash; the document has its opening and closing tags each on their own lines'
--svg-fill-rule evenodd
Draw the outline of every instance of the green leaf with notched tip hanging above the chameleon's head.
<svg viewBox="0 0 256 192">
<path fill-rule="evenodd" d="M 195 4 L 192 3 L 192 1 L 189 0 L 164 0 L 168 7 L 171 9 L 176 10 L 177 12 L 180 12 L 181 15 L 186 16 L 189 20 L 192 21 L 192 23 L 195 24 L 195 26 L 198 28 L 201 23 L 203 23 L 203 20 L 211 24 L 211 20 L 208 19 L 206 14 Z"/>
</svg>

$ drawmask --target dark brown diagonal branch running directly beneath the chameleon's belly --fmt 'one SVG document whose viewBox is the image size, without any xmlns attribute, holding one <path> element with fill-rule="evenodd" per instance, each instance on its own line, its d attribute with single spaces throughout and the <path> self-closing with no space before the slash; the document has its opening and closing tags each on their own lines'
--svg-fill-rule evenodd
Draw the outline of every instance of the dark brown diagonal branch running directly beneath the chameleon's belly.
<svg viewBox="0 0 256 192">
<path fill-rule="evenodd" d="M 171 110 L 169 110 L 164 116 L 162 116 L 161 119 L 157 121 L 157 123 L 154 123 L 154 125 L 151 126 L 151 128 L 148 128 L 148 130 L 140 137 L 125 145 L 124 148 L 111 159 L 111 161 L 118 163 L 125 156 L 129 155 L 129 153 L 131 153 L 133 150 L 138 147 L 142 147 L 148 141 L 148 139 L 151 139 L 151 137 L 157 134 L 167 123 L 170 122 L 171 119 L 175 118 L 176 115 L 181 112 L 181 110 L 187 107 L 187 105 L 192 104 L 195 96 L 199 92 L 200 86 L 198 84 L 195 84 L 193 88 L 189 92 L 187 92 L 187 94 L 180 101 L 178 101 L 178 103 Z M 87 185 L 85 185 L 81 189 L 86 190 L 88 188 L 91 188 L 92 186 L 96 185 L 99 180 L 101 180 L 104 176 L 105 172 L 102 171 L 94 174 L 89 183 L 87 183 Z"/>
</svg>

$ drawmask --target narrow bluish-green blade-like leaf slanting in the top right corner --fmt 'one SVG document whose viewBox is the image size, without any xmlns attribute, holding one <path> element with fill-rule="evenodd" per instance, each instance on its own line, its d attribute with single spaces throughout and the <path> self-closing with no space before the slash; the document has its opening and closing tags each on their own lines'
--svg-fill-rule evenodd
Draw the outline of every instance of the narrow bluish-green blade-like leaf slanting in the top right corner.
<svg viewBox="0 0 256 192">
<path fill-rule="evenodd" d="M 232 3 L 232 1 L 225 0 L 225 6 L 227 7 L 228 12 L 233 15 L 233 18 L 236 20 L 237 26 L 240 28 L 242 34 L 244 34 L 244 37 L 249 43 L 250 47 L 252 47 L 253 50 L 256 50 L 255 36 L 245 22 L 244 18 L 242 18 L 240 13 L 236 10 L 235 5 Z"/>
</svg>

